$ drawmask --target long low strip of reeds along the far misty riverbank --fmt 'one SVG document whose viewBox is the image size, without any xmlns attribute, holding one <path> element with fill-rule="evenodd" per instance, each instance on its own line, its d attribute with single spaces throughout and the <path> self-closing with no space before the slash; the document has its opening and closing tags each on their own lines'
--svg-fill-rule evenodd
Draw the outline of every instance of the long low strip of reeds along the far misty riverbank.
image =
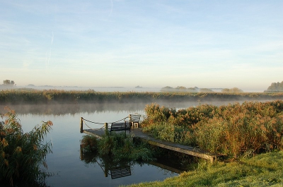
<svg viewBox="0 0 283 187">
<path fill-rule="evenodd" d="M 1 90 L 2 104 L 102 103 L 102 102 L 204 102 L 283 99 L 283 93 L 221 92 L 96 92 L 94 90 Z"/>
</svg>

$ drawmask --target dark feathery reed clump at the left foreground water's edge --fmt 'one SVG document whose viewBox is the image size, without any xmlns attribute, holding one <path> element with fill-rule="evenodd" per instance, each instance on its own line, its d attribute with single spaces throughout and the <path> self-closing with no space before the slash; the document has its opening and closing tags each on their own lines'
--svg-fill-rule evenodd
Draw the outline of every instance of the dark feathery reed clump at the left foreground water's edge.
<svg viewBox="0 0 283 187">
<path fill-rule="evenodd" d="M 45 157 L 51 143 L 44 143 L 52 122 L 43 122 L 23 133 L 17 114 L 9 110 L 0 123 L 0 183 L 7 186 L 44 186 L 49 174 Z"/>
</svg>

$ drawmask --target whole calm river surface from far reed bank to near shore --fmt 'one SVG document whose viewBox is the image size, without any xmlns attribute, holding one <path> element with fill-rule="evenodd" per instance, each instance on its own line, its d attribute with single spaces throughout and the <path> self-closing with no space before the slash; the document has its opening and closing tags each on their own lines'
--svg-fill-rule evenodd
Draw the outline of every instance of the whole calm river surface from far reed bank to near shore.
<svg viewBox="0 0 283 187">
<path fill-rule="evenodd" d="M 223 103 L 224 104 L 224 103 Z M 196 103 L 164 104 L 166 107 L 187 108 Z M 80 140 L 83 134 L 79 133 L 81 117 L 98 123 L 111 123 L 124 119 L 129 114 L 144 114 L 145 104 L 115 106 L 94 104 L 86 105 L 55 105 L 55 106 L 9 106 L 18 113 L 23 131 L 31 131 L 41 121 L 52 121 L 52 131 L 45 140 L 52 142 L 52 152 L 47 155 L 47 171 L 55 176 L 47 179 L 47 185 L 54 187 L 64 186 L 119 186 L 122 184 L 140 183 L 144 181 L 163 180 L 171 176 L 178 176 L 173 171 L 168 171 L 151 164 L 131 165 L 131 175 L 119 179 L 105 177 L 100 167 L 100 161 L 86 164 L 80 159 Z M 62 110 L 58 109 L 61 107 Z M 4 113 L 1 106 L 0 113 Z M 91 128 L 100 128 L 103 124 L 87 123 Z M 84 126 L 84 128 L 87 128 Z M 108 172 L 109 173 L 109 172 Z"/>
</svg>

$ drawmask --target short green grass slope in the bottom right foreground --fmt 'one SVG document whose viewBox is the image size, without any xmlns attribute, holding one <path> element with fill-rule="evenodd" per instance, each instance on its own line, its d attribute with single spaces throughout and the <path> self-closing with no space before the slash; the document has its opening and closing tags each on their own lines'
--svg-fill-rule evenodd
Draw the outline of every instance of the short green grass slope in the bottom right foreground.
<svg viewBox="0 0 283 187">
<path fill-rule="evenodd" d="M 199 165 L 180 176 L 134 186 L 283 186 L 283 152 L 270 152 L 237 162 Z"/>
</svg>

